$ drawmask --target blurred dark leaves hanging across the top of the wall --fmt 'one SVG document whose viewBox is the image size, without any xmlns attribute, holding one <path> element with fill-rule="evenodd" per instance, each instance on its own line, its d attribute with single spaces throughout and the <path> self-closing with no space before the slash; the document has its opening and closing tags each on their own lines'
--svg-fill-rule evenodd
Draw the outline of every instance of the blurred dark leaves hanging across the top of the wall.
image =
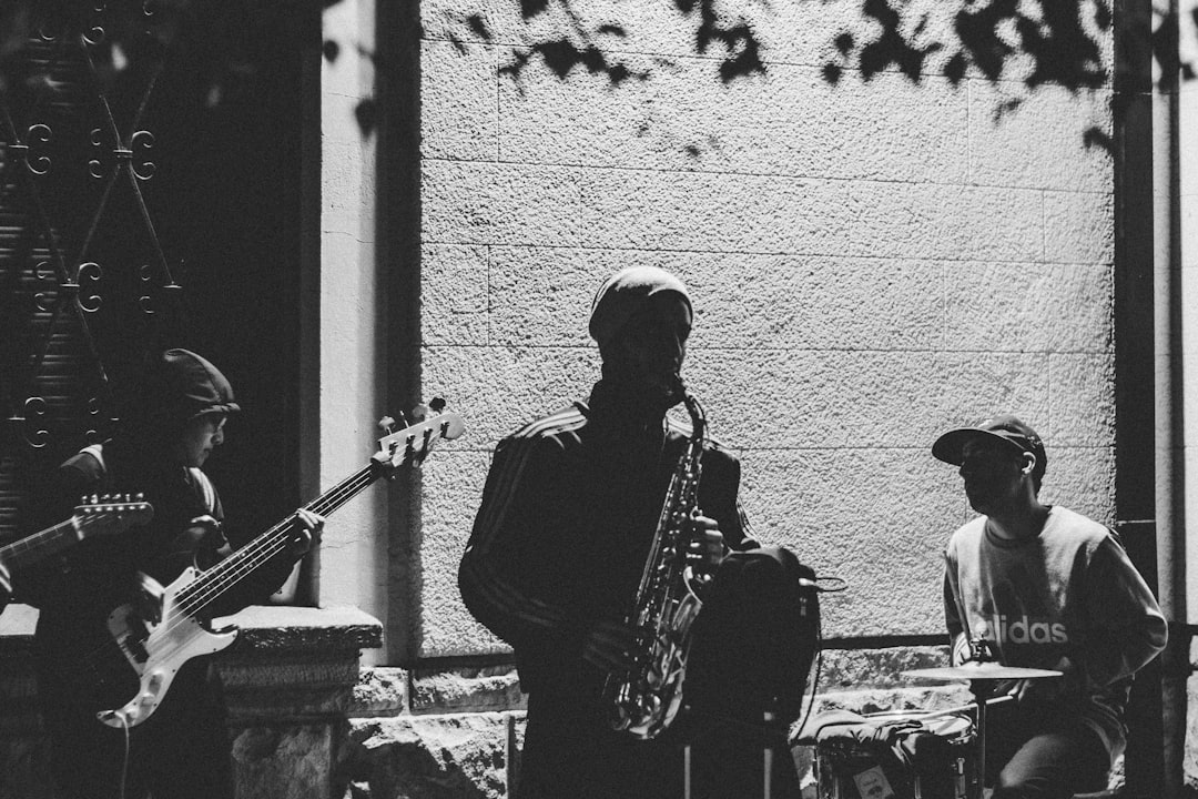
<svg viewBox="0 0 1198 799">
<path fill-rule="evenodd" d="M 501 73 L 518 85 L 534 62 L 543 63 L 562 80 L 580 72 L 603 75 L 612 89 L 652 78 L 652 68 L 636 66 L 643 57 L 628 59 L 619 50 L 628 41 L 630 19 L 588 23 L 577 11 L 581 5 L 577 0 L 509 1 L 519 7 L 525 24 L 522 32 L 527 36 L 520 43 L 510 43 L 510 59 Z M 737 16 L 739 10 L 768 11 L 767 0 L 738 4 L 731 10 L 728 4 L 715 0 L 659 1 L 678 12 L 679 26 L 692 28 L 690 44 L 695 55 L 718 59 L 725 84 L 767 72 L 764 42 L 752 22 Z M 810 8 L 812 20 L 816 14 L 830 13 L 828 0 L 799 1 Z M 1162 90 L 1175 85 L 1178 77 L 1192 79 L 1196 72 L 1192 62 L 1181 59 L 1179 29 L 1182 25 L 1198 29 L 1198 4 L 1185 5 L 1191 7 L 1181 13 L 1133 22 L 1121 34 L 1123 40 L 1115 42 L 1117 49 L 1132 54 L 1131 57 L 1137 52 L 1151 54 L 1160 69 Z M 1046 86 L 1082 93 L 1102 90 L 1112 83 L 1106 52 L 1115 35 L 1113 0 L 1040 4 L 966 0 L 956 11 L 948 12 L 946 25 L 940 17 L 945 13 L 943 7 L 937 13 L 942 24 L 936 24 L 928 12 L 921 12 L 909 0 L 860 0 L 855 18 L 828 42 L 831 55 L 822 65 L 823 79 L 835 86 L 848 72 L 858 73 L 865 81 L 881 73 L 900 73 L 915 84 L 937 75 L 954 86 L 962 86 L 968 78 L 980 78 L 992 85 L 1018 87 L 1019 91 L 996 104 L 996 121 Z M 465 38 L 509 44 L 479 13 L 461 12 L 456 23 L 468 31 L 452 40 L 462 52 Z M 672 66 L 666 59 L 657 59 L 657 63 Z M 1120 102 L 1121 96 L 1114 92 L 1112 103 Z M 1087 127 L 1082 140 L 1087 147 L 1108 152 L 1114 149 L 1109 131 L 1100 125 Z M 698 158 L 706 147 L 691 144 L 683 151 Z"/>
</svg>

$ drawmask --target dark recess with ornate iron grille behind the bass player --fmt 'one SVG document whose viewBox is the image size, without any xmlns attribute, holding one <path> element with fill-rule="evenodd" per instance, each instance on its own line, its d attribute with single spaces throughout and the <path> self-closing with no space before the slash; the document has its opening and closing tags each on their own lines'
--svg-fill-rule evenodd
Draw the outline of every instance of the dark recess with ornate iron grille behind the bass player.
<svg viewBox="0 0 1198 799">
<path fill-rule="evenodd" d="M 24 1 L 29 37 L 0 73 L 0 544 L 168 346 L 210 357 L 274 424 L 218 465 L 265 523 L 297 492 L 295 10 Z"/>
</svg>

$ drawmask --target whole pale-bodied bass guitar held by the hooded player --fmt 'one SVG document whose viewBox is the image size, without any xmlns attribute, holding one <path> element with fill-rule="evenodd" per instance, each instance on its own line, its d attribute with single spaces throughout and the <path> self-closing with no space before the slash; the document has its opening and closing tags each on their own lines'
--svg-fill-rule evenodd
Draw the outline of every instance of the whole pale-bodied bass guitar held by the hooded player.
<svg viewBox="0 0 1198 799">
<path fill-rule="evenodd" d="M 380 438 L 379 452 L 364 468 L 303 508 L 327 516 L 380 477 L 394 474 L 405 464 L 423 462 L 435 443 L 456 438 L 465 430 L 461 417 L 443 413 L 443 408 L 444 402 L 441 400 L 419 406 L 413 411 L 413 417 L 419 419 L 416 424 Z M 99 710 L 96 718 L 110 727 L 135 727 L 158 708 L 184 662 L 231 644 L 237 637 L 237 629 L 211 629 L 204 621 L 205 610 L 229 588 L 289 546 L 296 535 L 295 519 L 296 514 L 290 514 L 208 569 L 186 569 L 163 589 L 158 619 L 144 618 L 132 605 L 122 605 L 113 611 L 108 617 L 108 631 L 133 667 L 139 686 L 133 698 L 122 707 Z M 132 685 L 131 680 L 127 682 Z"/>
</svg>

